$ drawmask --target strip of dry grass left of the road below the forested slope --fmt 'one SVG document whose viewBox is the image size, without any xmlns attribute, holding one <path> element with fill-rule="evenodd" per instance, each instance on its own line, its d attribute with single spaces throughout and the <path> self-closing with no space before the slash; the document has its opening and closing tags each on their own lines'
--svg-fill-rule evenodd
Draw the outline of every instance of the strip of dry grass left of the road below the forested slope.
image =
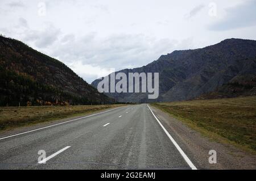
<svg viewBox="0 0 256 181">
<path fill-rule="evenodd" d="M 123 105 L 0 107 L 0 131 L 119 106 Z"/>
</svg>

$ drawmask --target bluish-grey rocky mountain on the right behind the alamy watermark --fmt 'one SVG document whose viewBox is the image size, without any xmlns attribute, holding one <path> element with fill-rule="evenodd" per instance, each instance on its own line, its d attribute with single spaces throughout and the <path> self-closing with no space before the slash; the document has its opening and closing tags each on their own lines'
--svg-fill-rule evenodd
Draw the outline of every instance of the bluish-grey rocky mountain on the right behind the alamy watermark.
<svg viewBox="0 0 256 181">
<path fill-rule="evenodd" d="M 209 47 L 175 50 L 135 69 L 116 73 L 159 73 L 159 97 L 146 93 L 105 93 L 126 102 L 169 102 L 176 100 L 255 95 L 256 41 L 226 39 Z M 109 76 L 109 75 L 108 75 Z M 92 82 L 97 87 L 97 79 Z"/>
</svg>

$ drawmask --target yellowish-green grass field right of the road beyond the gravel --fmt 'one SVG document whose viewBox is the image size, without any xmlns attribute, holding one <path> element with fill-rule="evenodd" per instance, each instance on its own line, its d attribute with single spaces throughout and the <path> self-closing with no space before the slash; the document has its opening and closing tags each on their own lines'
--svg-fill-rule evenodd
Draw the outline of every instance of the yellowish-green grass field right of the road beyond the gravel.
<svg viewBox="0 0 256 181">
<path fill-rule="evenodd" d="M 256 153 L 256 96 L 154 103 L 189 127 Z"/>
</svg>

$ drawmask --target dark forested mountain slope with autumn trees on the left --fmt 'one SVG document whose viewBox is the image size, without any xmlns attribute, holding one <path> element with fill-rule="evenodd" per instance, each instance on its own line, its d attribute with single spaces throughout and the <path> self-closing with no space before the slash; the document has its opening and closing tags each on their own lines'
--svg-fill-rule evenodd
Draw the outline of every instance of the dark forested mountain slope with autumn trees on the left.
<svg viewBox="0 0 256 181">
<path fill-rule="evenodd" d="M 0 36 L 0 106 L 114 103 L 62 62 Z"/>
</svg>

